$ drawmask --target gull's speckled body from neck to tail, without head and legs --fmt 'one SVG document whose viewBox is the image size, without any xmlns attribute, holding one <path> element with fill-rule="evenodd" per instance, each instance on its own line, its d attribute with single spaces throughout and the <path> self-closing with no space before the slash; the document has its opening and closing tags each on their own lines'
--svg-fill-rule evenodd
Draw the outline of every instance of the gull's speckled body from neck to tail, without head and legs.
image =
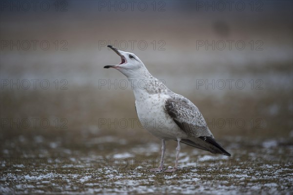
<svg viewBox="0 0 293 195">
<path fill-rule="evenodd" d="M 190 100 L 172 92 L 148 74 L 144 77 L 146 89 L 134 87 L 137 115 L 140 121 L 147 123 L 146 130 L 160 139 L 180 138 L 181 142 L 193 147 L 230 155 L 222 147 L 219 148 L 203 115 Z M 207 142 L 207 137 L 212 141 Z"/>
</svg>

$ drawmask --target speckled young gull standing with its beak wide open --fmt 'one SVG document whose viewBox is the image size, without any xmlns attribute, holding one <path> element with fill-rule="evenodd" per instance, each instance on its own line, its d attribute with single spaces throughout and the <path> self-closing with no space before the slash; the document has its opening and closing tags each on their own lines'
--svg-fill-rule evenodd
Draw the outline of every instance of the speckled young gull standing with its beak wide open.
<svg viewBox="0 0 293 195">
<path fill-rule="evenodd" d="M 231 156 L 215 140 L 199 111 L 186 97 L 174 93 L 153 77 L 144 63 L 133 53 L 120 51 L 108 45 L 121 58 L 118 65 L 105 65 L 124 74 L 133 88 L 135 109 L 145 129 L 162 140 L 162 154 L 158 168 L 152 172 L 174 172 L 178 168 L 180 142 L 215 154 Z M 175 166 L 164 167 L 165 141 L 177 141 Z"/>
</svg>

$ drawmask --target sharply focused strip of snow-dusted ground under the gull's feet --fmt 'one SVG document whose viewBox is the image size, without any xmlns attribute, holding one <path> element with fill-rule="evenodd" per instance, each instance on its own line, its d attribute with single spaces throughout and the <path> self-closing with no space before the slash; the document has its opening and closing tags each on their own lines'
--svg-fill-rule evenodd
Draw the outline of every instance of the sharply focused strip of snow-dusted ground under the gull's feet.
<svg viewBox="0 0 293 195">
<path fill-rule="evenodd" d="M 48 173 L 50 172 L 50 173 Z M 1 173 L 1 194 L 290 194 L 293 167 L 143 170 L 72 169 Z"/>
</svg>

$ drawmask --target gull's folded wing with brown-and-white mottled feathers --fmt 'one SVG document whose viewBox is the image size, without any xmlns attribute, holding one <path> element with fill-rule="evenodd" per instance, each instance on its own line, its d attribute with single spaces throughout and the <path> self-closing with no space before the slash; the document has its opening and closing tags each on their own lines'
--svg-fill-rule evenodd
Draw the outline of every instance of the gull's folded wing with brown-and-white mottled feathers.
<svg viewBox="0 0 293 195">
<path fill-rule="evenodd" d="M 183 96 L 168 98 L 165 100 L 164 108 L 189 136 L 213 137 L 203 115 L 187 98 Z"/>
</svg>

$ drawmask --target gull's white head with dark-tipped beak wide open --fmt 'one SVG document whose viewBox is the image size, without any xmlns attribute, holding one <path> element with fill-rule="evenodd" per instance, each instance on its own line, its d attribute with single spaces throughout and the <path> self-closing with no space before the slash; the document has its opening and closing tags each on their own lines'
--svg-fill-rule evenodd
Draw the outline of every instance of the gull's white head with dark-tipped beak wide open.
<svg viewBox="0 0 293 195">
<path fill-rule="evenodd" d="M 144 63 L 135 54 L 120 51 L 112 45 L 108 45 L 108 47 L 121 57 L 121 63 L 118 65 L 105 65 L 104 68 L 115 68 L 127 78 L 137 77 L 148 72 Z"/>
</svg>

